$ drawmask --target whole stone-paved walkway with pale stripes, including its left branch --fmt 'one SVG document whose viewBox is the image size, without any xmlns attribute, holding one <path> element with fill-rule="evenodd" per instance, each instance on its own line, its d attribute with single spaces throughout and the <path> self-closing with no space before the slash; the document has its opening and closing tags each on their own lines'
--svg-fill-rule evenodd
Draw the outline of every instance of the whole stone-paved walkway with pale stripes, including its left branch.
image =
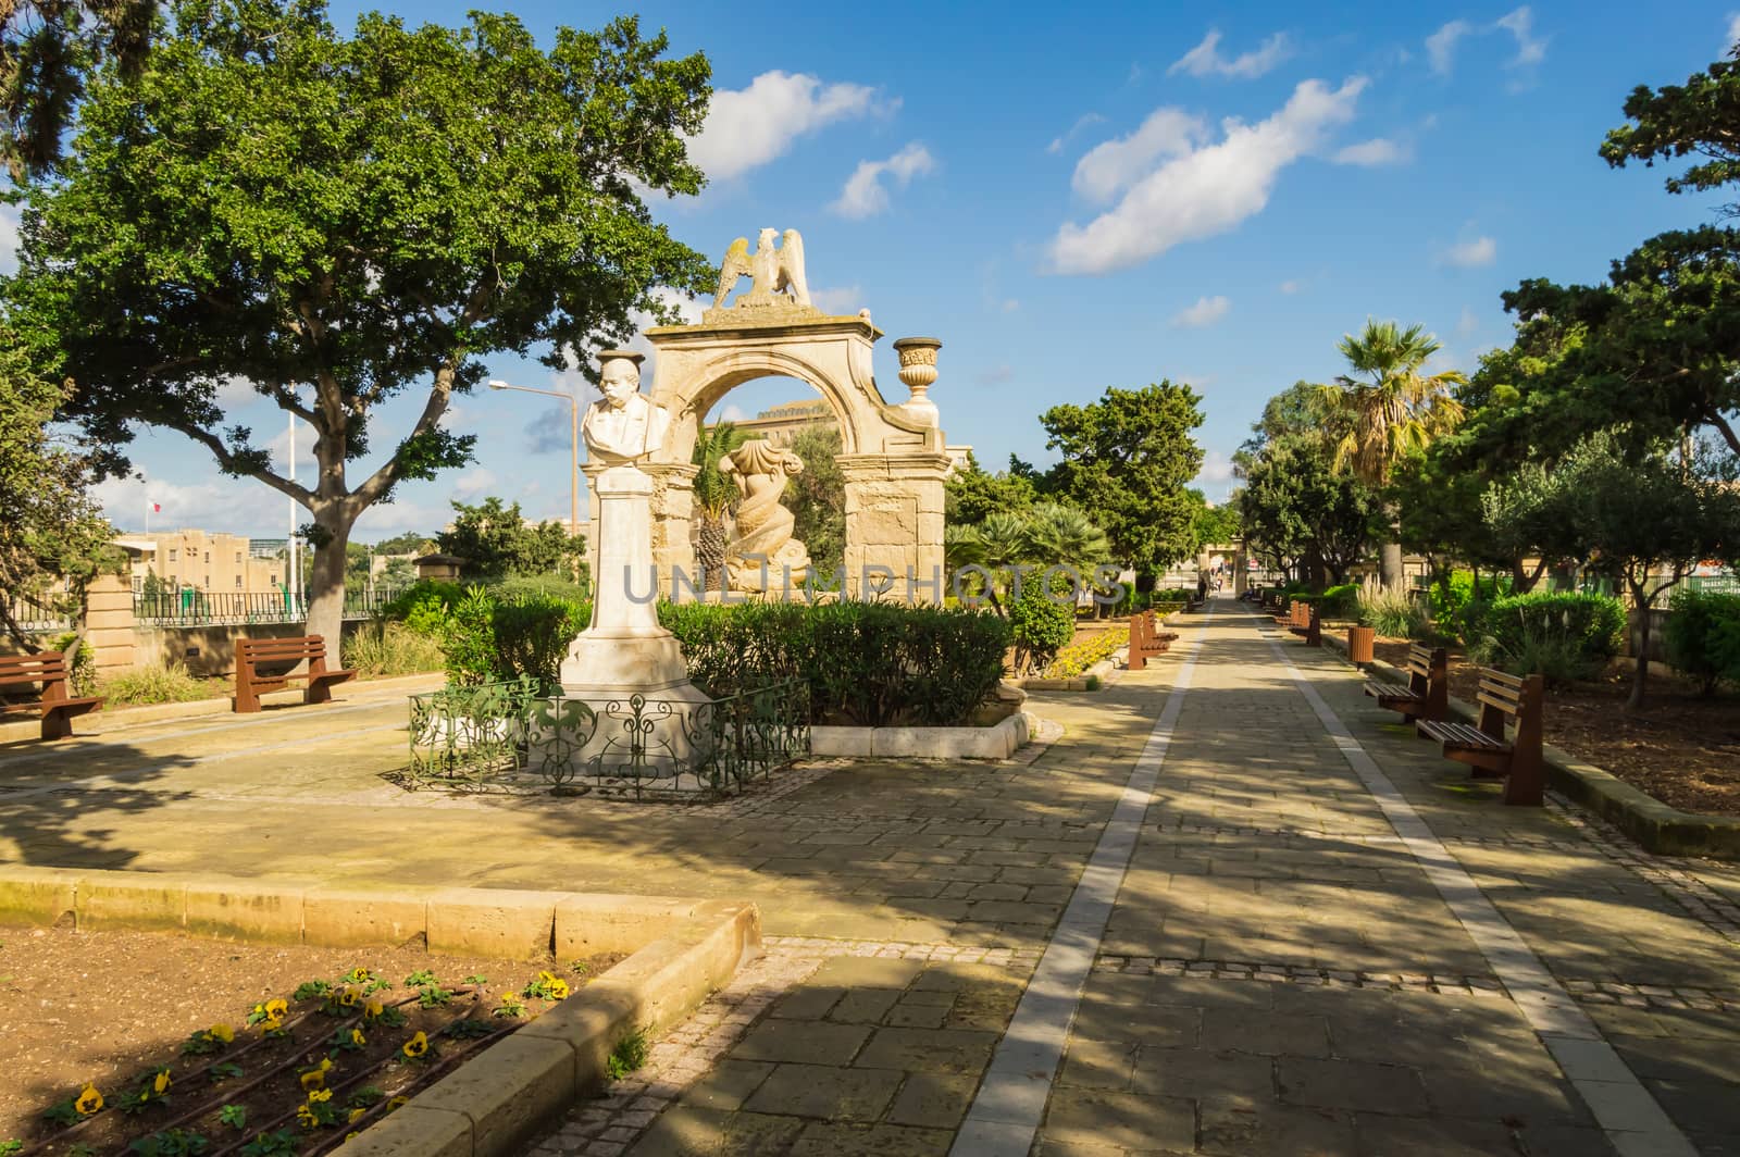
<svg viewBox="0 0 1740 1157">
<path fill-rule="evenodd" d="M 1039 698 L 1030 762 L 727 809 L 405 795 L 362 701 L 0 748 L 0 858 L 757 900 L 767 955 L 545 1157 L 1740 1154 L 1740 865 L 1502 807 L 1262 623 Z"/>
</svg>

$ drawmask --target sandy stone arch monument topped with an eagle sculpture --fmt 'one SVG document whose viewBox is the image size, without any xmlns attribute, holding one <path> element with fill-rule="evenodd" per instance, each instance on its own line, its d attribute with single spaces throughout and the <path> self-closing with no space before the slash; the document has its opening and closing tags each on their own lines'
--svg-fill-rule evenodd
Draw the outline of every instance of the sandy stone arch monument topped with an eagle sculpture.
<svg viewBox="0 0 1740 1157">
<path fill-rule="evenodd" d="M 948 454 L 936 404 L 926 397 L 936 381 L 941 343 L 934 338 L 894 343 L 910 397 L 889 404 L 870 372 L 872 346 L 882 338 L 870 324 L 870 311 L 832 317 L 811 304 L 802 238 L 786 230 L 776 249 L 774 237 L 774 230 L 762 230 L 755 252 L 746 238 L 731 245 L 713 306 L 698 325 L 646 332 L 658 351 L 649 400 L 672 416 L 661 445 L 642 466 L 652 477 L 652 562 L 659 585 L 673 593 L 673 567 L 696 574 L 689 543 L 696 466 L 689 459 L 701 419 L 734 386 L 755 378 L 797 378 L 828 400 L 840 425 L 847 593 L 867 597 L 867 586 L 873 592 L 880 585 L 891 599 L 941 600 Z M 740 277 L 752 277 L 753 287 L 726 304 Z M 588 478 L 595 470 L 586 465 Z M 597 525 L 595 489 L 592 515 Z M 814 581 L 833 586 L 833 576 Z M 708 585 L 717 588 L 717 578 L 708 576 Z"/>
</svg>

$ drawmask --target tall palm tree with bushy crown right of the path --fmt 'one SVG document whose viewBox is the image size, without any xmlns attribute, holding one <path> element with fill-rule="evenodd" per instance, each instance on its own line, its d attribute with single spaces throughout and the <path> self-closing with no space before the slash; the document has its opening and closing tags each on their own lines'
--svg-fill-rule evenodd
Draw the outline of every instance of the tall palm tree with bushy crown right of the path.
<svg viewBox="0 0 1740 1157">
<path fill-rule="evenodd" d="M 1352 471 L 1368 485 L 1389 485 L 1395 465 L 1420 454 L 1462 421 L 1451 386 L 1467 383 L 1462 371 L 1422 374 L 1425 362 L 1444 346 L 1423 325 L 1366 320 L 1357 338 L 1342 338 L 1342 357 L 1352 372 L 1322 386 L 1343 428 L 1335 447 L 1335 470 Z M 1387 506 L 1392 531 L 1399 512 Z M 1401 534 L 1392 532 L 1382 553 L 1383 585 L 1402 585 Z"/>
</svg>

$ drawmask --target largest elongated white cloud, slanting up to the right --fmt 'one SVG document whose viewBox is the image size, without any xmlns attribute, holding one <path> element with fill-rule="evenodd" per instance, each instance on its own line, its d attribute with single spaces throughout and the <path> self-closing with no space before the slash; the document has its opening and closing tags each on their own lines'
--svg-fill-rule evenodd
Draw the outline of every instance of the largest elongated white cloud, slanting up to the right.
<svg viewBox="0 0 1740 1157">
<path fill-rule="evenodd" d="M 1088 224 L 1067 221 L 1051 242 L 1051 270 L 1110 273 L 1232 230 L 1263 211 L 1282 169 L 1319 148 L 1331 125 L 1354 117 L 1364 87 L 1364 77 L 1340 89 L 1307 80 L 1267 120 L 1227 120 L 1220 143 L 1171 157 Z"/>
</svg>

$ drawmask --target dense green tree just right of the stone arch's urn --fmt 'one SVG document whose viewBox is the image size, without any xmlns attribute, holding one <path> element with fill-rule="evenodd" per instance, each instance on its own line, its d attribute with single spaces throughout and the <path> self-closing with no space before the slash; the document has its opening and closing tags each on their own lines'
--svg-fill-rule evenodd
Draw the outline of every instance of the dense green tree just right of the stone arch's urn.
<svg viewBox="0 0 1740 1157">
<path fill-rule="evenodd" d="M 1195 552 L 1195 503 L 1187 487 L 1202 468 L 1190 431 L 1202 398 L 1187 385 L 1108 388 L 1088 405 L 1053 405 L 1039 419 L 1046 447 L 1063 458 L 1044 491 L 1105 527 L 1112 550 L 1152 581 Z"/>
</svg>

